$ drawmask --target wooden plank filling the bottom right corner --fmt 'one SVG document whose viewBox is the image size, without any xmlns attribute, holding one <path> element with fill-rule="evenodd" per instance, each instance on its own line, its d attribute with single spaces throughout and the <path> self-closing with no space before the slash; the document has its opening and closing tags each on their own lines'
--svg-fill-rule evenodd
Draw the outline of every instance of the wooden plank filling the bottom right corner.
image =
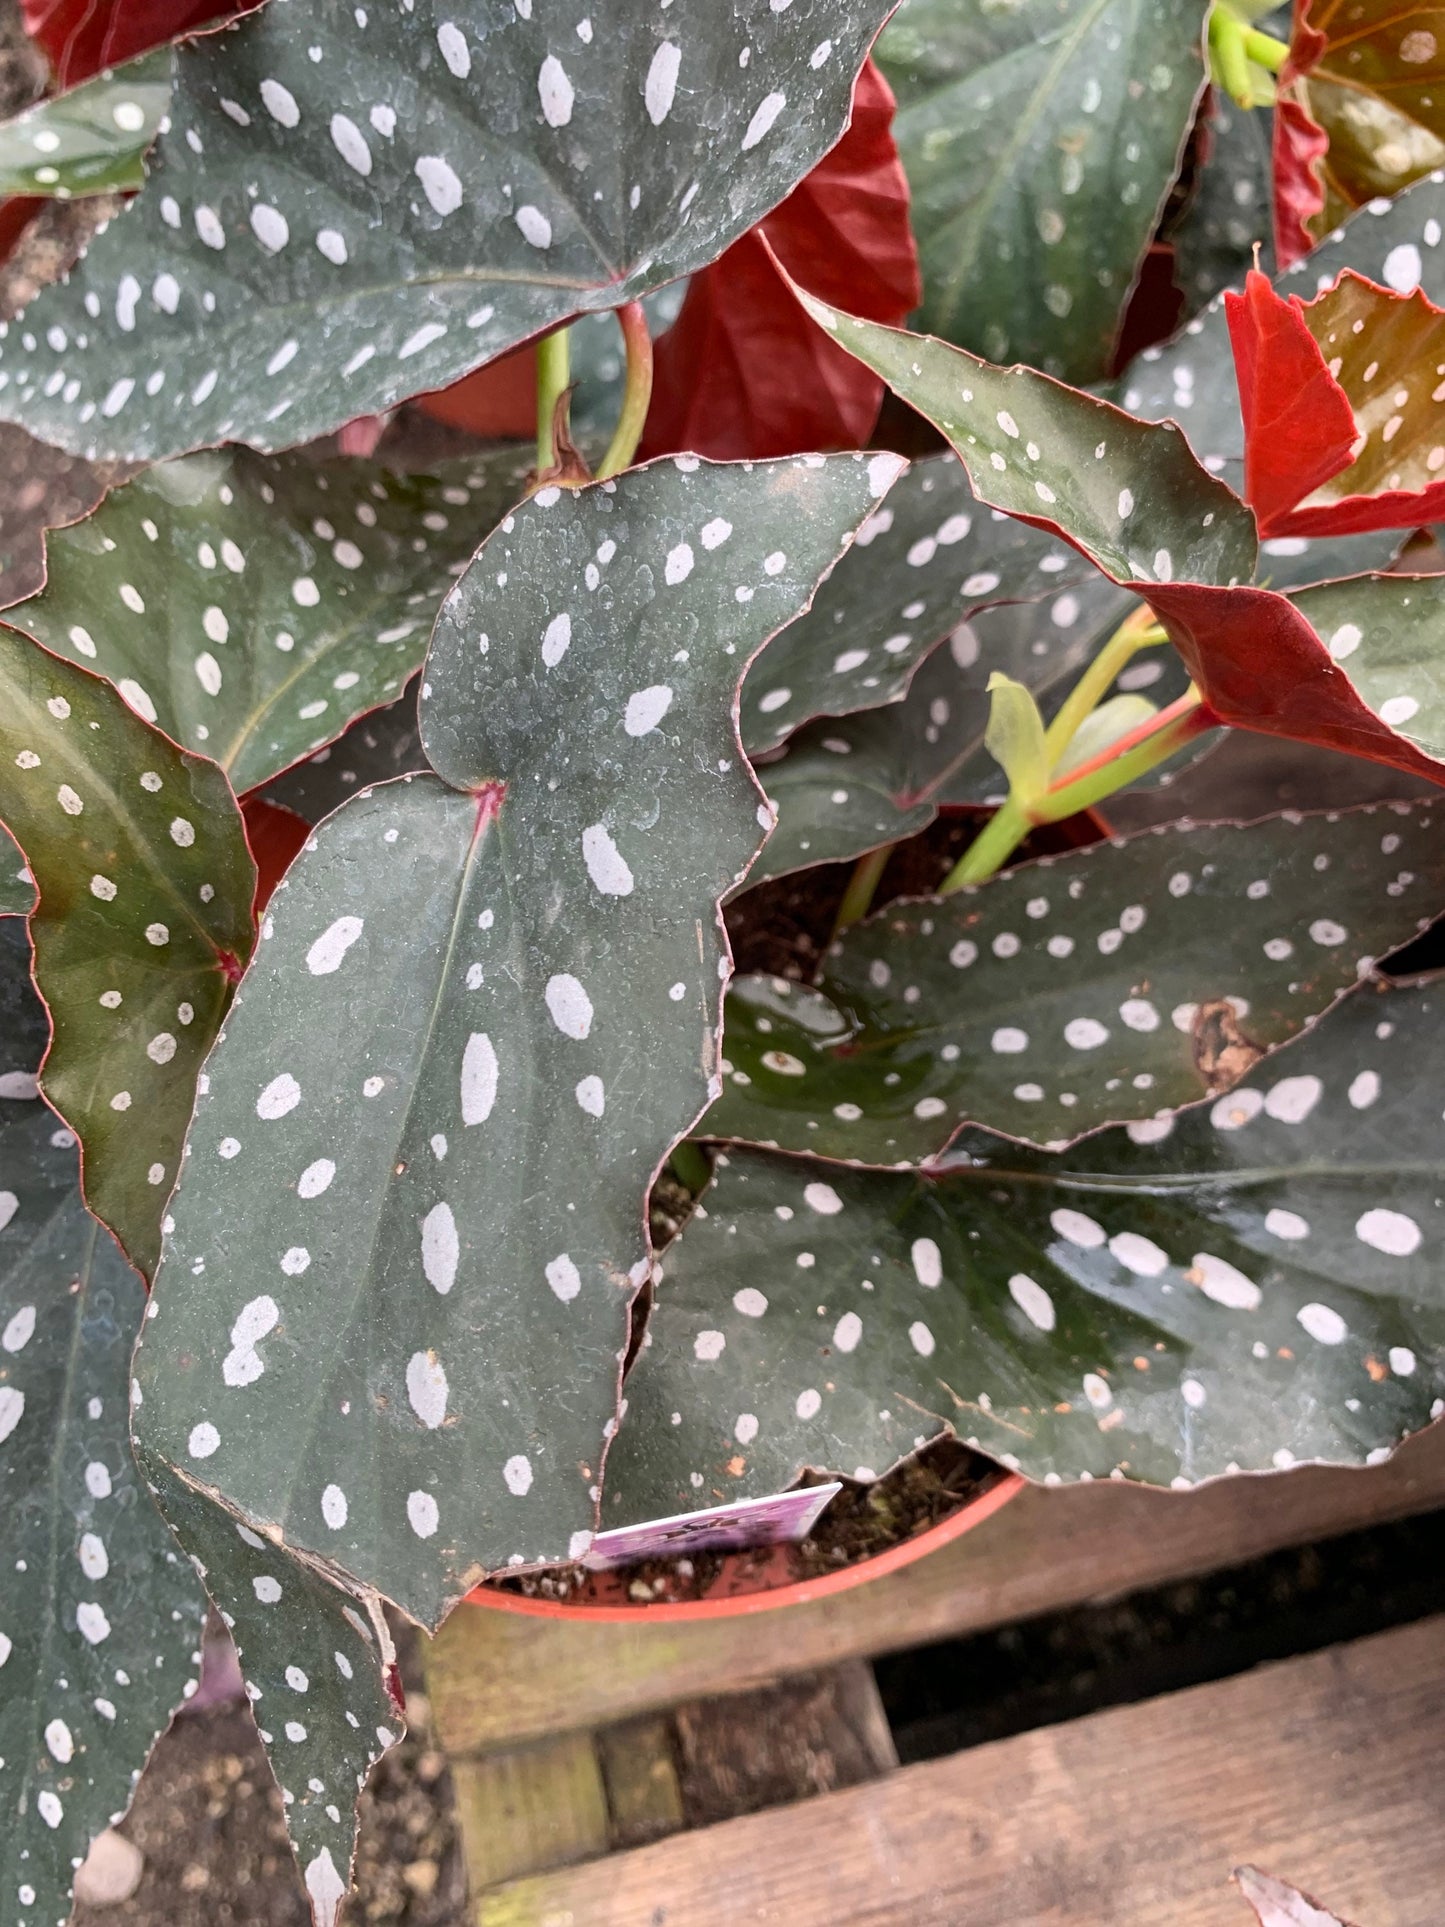
<svg viewBox="0 0 1445 1927">
<path fill-rule="evenodd" d="M 476 1898 L 478 1927 L 1439 1927 L 1445 1617 Z"/>
</svg>

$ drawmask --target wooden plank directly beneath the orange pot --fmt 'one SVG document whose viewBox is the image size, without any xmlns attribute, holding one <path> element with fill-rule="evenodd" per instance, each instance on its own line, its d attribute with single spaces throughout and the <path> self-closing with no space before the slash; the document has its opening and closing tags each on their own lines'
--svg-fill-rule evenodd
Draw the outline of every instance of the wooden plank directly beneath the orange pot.
<svg viewBox="0 0 1445 1927">
<path fill-rule="evenodd" d="M 1370 1470 L 1302 1466 L 1196 1491 L 1031 1488 L 906 1572 L 746 1619 L 588 1626 L 459 1607 L 428 1661 L 437 1732 L 460 1755 L 597 1727 L 1158 1586 L 1441 1503 L 1445 1426 L 1432 1426 Z"/>
</svg>

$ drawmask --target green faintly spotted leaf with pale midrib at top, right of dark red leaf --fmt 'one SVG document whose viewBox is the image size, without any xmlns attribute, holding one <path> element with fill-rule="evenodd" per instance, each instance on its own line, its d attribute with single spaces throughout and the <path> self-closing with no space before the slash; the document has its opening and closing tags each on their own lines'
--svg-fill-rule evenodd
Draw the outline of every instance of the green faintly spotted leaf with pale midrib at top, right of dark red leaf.
<svg viewBox="0 0 1445 1927">
<path fill-rule="evenodd" d="M 923 262 L 919 324 L 1071 382 L 1108 372 L 1204 91 L 1202 0 L 909 0 L 879 42 Z"/>
</svg>

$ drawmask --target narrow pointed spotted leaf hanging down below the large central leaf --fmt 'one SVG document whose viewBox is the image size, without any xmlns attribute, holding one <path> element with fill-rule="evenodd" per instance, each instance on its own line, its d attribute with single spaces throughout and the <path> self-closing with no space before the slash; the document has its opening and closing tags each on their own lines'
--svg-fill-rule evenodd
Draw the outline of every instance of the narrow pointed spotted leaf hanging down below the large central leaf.
<svg viewBox="0 0 1445 1927">
<path fill-rule="evenodd" d="M 141 1465 L 231 1630 L 312 1917 L 335 1927 L 351 1887 L 356 1794 L 401 1723 L 385 1619 L 164 1463 L 143 1455 Z"/>
</svg>

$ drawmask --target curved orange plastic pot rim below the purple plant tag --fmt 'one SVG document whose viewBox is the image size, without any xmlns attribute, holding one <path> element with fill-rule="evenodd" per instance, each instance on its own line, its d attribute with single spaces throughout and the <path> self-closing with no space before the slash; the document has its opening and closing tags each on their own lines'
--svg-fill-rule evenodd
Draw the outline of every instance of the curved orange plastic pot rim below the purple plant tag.
<svg viewBox="0 0 1445 1927">
<path fill-rule="evenodd" d="M 1023 1491 L 1027 1480 L 1017 1472 L 1000 1472 L 992 1486 L 986 1486 L 975 1499 L 961 1505 L 948 1518 L 917 1538 L 890 1545 L 877 1559 L 859 1559 L 857 1565 L 838 1572 L 825 1572 L 819 1578 L 788 1578 L 788 1547 L 773 1547 L 771 1555 L 730 1553 L 724 1569 L 713 1582 L 705 1599 L 630 1599 L 624 1580 L 615 1572 L 597 1572 L 591 1580 L 591 1596 L 578 1599 L 528 1599 L 516 1592 L 503 1592 L 497 1586 L 476 1586 L 466 1596 L 468 1605 L 482 1605 L 497 1613 L 528 1613 L 534 1619 L 576 1619 L 590 1624 L 642 1624 L 676 1623 L 682 1619 L 738 1619 L 744 1613 L 771 1613 L 784 1605 L 807 1605 L 813 1599 L 830 1599 L 834 1594 L 852 1592 L 884 1572 L 900 1572 L 917 1559 L 927 1559 L 942 1545 L 952 1545 L 965 1532 L 981 1526 L 985 1518 L 1008 1505 Z"/>
</svg>

